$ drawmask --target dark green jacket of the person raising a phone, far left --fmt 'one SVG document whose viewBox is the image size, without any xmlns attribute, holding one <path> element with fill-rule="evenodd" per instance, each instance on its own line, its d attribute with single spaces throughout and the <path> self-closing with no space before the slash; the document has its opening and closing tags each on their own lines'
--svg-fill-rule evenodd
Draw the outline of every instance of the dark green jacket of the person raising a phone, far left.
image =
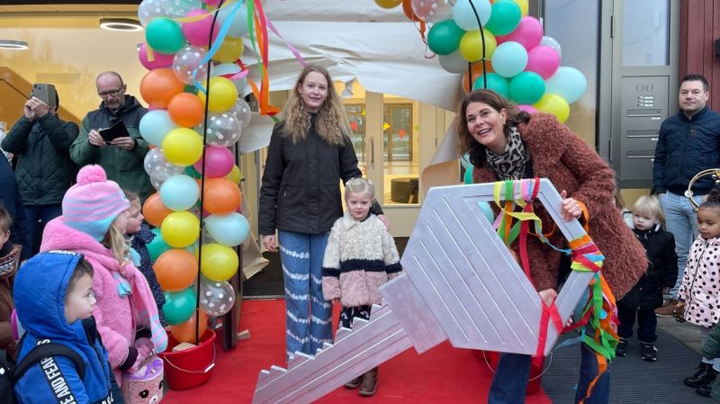
<svg viewBox="0 0 720 404">
<path fill-rule="evenodd" d="M 76 123 L 47 113 L 35 121 L 23 115 L 3 139 L 4 150 L 19 156 L 15 178 L 26 205 L 62 202 L 75 181 L 77 166 L 70 159 L 70 146 L 77 138 Z"/>
</svg>

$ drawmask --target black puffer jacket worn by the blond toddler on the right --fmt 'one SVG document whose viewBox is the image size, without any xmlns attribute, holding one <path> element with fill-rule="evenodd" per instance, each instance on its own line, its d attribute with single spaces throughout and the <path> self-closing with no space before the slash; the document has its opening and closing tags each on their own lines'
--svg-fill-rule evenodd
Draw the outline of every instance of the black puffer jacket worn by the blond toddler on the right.
<svg viewBox="0 0 720 404">
<path fill-rule="evenodd" d="M 653 310 L 662 306 L 662 287 L 678 280 L 678 256 L 675 238 L 660 225 L 650 230 L 633 229 L 647 252 L 647 271 L 619 303 L 634 310 Z"/>
</svg>

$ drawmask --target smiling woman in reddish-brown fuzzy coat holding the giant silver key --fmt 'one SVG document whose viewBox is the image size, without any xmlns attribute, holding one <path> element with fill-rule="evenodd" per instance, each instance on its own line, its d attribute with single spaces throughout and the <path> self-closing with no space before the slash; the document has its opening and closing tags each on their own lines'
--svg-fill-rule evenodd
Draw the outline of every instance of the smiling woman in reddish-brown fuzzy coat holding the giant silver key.
<svg viewBox="0 0 720 404">
<path fill-rule="evenodd" d="M 563 220 L 580 219 L 582 207 L 589 213 L 590 238 L 605 255 L 602 274 L 616 299 L 636 283 L 647 268 L 643 246 L 622 220 L 614 203 L 615 173 L 593 148 L 544 113 L 520 112 L 518 107 L 490 90 L 478 90 L 465 97 L 459 112 L 458 144 L 473 163 L 473 182 L 523 178 L 549 178 L 563 196 Z M 534 203 L 545 231 L 553 220 L 540 202 Z M 550 237 L 562 246 L 563 235 Z M 512 246 L 516 250 L 518 246 Z M 550 304 L 557 296 L 560 253 L 538 238 L 527 238 L 530 277 L 540 297 Z M 581 345 L 581 377 L 576 402 L 606 403 L 609 400 L 609 373 L 602 373 L 594 388 L 590 382 L 599 374 L 595 352 Z M 503 354 L 491 385 L 489 403 L 524 402 L 530 356 Z"/>
</svg>

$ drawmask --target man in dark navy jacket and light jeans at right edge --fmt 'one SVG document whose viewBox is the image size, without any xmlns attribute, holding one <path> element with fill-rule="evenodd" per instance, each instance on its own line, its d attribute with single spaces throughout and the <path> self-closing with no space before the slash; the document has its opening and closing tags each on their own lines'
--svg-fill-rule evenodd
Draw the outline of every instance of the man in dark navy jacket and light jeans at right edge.
<svg viewBox="0 0 720 404">
<path fill-rule="evenodd" d="M 720 167 L 720 113 L 707 107 L 709 97 L 710 86 L 704 76 L 683 77 L 678 100 L 680 112 L 662 122 L 655 148 L 653 192 L 660 197 L 678 254 L 678 281 L 671 290 L 671 300 L 655 310 L 660 317 L 670 316 L 675 309 L 690 245 L 698 235 L 695 211 L 685 196 L 688 185 L 700 171 Z M 712 187 L 709 177 L 696 181 L 692 186 L 696 202 L 701 202 Z"/>
</svg>

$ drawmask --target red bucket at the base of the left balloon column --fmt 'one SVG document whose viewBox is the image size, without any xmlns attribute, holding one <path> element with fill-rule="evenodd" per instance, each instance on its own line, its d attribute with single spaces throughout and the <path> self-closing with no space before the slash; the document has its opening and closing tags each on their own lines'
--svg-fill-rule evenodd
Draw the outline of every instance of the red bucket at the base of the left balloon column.
<svg viewBox="0 0 720 404">
<path fill-rule="evenodd" d="M 173 352 L 173 347 L 178 344 L 168 333 L 167 349 L 158 354 L 165 362 L 165 377 L 170 389 L 187 390 L 207 382 L 215 367 L 215 332 L 208 329 L 198 346 Z"/>
</svg>

